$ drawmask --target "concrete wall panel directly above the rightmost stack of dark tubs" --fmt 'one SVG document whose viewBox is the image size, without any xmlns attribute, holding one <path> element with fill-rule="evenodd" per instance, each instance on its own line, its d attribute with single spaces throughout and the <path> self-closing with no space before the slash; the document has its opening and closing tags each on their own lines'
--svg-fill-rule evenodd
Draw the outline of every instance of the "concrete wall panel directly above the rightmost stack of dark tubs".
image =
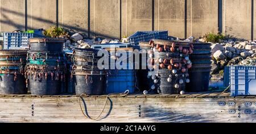
<svg viewBox="0 0 256 134">
<path fill-rule="evenodd" d="M 187 36 L 218 32 L 218 0 L 187 1 Z"/>
</svg>

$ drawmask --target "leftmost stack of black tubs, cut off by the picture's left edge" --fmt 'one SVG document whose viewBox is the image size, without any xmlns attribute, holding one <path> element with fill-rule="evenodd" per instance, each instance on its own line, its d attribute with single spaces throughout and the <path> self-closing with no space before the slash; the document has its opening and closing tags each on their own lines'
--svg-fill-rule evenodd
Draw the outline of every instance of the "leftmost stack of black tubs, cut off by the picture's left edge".
<svg viewBox="0 0 256 134">
<path fill-rule="evenodd" d="M 26 56 L 27 50 L 0 51 L 0 94 L 27 94 Z"/>
</svg>

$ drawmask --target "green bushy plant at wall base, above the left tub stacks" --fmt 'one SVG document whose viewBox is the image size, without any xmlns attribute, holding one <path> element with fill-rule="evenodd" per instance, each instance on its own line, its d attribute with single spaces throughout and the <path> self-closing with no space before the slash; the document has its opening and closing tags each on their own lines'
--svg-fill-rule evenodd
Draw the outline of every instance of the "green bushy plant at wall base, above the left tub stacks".
<svg viewBox="0 0 256 134">
<path fill-rule="evenodd" d="M 65 37 L 68 36 L 68 32 L 64 30 L 62 27 L 50 27 L 46 31 L 43 32 L 44 36 L 48 37 Z"/>
</svg>

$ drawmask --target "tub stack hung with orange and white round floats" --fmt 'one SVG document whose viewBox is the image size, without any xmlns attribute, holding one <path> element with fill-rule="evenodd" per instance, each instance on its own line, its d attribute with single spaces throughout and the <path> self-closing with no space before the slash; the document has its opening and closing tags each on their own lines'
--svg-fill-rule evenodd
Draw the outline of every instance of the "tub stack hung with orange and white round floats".
<svg viewBox="0 0 256 134">
<path fill-rule="evenodd" d="M 184 94 L 189 82 L 188 69 L 192 67 L 189 55 L 193 45 L 177 41 L 151 40 L 150 64 L 155 70 L 151 78 L 159 94 Z"/>
</svg>

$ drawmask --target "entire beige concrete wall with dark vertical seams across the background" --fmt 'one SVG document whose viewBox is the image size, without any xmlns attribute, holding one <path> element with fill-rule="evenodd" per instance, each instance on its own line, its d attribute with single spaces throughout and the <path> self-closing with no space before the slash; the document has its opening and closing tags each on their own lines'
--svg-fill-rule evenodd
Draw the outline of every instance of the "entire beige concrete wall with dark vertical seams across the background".
<svg viewBox="0 0 256 134">
<path fill-rule="evenodd" d="M 0 7 L 1 32 L 61 26 L 119 39 L 136 31 L 185 38 L 220 30 L 256 39 L 256 0 L 0 0 Z"/>
</svg>

